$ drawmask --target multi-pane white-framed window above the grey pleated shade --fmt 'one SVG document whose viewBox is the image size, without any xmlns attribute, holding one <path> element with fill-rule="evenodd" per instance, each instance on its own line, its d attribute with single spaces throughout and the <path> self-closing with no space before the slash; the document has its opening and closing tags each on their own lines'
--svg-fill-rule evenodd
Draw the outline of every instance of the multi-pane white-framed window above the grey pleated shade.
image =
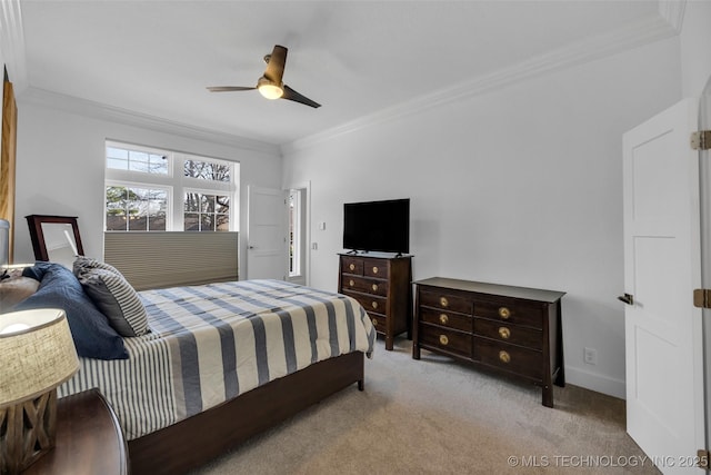
<svg viewBox="0 0 711 475">
<path fill-rule="evenodd" d="M 239 164 L 107 141 L 107 231 L 236 231 Z"/>
</svg>

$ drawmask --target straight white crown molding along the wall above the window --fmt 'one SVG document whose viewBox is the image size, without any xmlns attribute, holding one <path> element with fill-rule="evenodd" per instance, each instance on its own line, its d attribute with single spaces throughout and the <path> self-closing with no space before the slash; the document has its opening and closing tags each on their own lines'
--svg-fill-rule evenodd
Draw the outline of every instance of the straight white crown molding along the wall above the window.
<svg viewBox="0 0 711 475">
<path fill-rule="evenodd" d="M 48 91 L 46 89 L 29 87 L 19 96 L 19 102 L 49 107 L 77 113 L 83 117 L 103 119 L 127 126 L 141 127 L 158 132 L 172 133 L 180 137 L 188 137 L 196 140 L 210 141 L 246 150 L 259 151 L 269 155 L 280 156 L 279 146 L 232 133 L 219 132 L 211 129 L 190 126 L 187 123 L 171 121 L 161 117 L 134 112 L 119 107 L 107 106 L 74 96 L 62 95 Z"/>
</svg>

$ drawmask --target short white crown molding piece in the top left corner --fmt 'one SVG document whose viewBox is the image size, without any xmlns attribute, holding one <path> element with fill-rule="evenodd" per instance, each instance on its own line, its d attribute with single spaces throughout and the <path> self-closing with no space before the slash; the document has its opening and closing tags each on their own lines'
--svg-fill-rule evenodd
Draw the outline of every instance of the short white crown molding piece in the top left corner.
<svg viewBox="0 0 711 475">
<path fill-rule="evenodd" d="M 17 96 L 30 83 L 24 58 L 24 30 L 20 0 L 2 0 L 0 3 L 0 48 Z"/>
</svg>

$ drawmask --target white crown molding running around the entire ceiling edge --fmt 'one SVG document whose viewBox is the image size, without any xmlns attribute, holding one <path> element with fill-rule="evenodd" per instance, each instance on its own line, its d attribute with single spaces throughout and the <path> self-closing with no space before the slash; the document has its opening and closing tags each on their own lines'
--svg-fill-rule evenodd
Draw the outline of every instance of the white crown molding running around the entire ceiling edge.
<svg viewBox="0 0 711 475">
<path fill-rule="evenodd" d="M 573 43 L 567 48 L 523 61 L 511 68 L 474 78 L 471 81 L 451 88 L 434 91 L 430 95 L 382 109 L 372 115 L 281 146 L 31 87 L 27 70 L 20 0 L 2 0 L 0 2 L 0 47 L 2 47 L 2 57 L 19 101 L 28 101 L 30 103 L 67 110 L 82 116 L 111 120 L 129 126 L 144 127 L 160 132 L 190 137 L 197 140 L 213 141 L 271 155 L 284 155 L 300 149 L 308 149 L 322 141 L 351 133 L 359 129 L 402 119 L 432 108 L 503 89 L 537 76 L 562 70 L 673 37 L 681 31 L 685 4 L 687 0 L 659 0 L 658 17 L 640 21 L 630 28 Z"/>
</svg>

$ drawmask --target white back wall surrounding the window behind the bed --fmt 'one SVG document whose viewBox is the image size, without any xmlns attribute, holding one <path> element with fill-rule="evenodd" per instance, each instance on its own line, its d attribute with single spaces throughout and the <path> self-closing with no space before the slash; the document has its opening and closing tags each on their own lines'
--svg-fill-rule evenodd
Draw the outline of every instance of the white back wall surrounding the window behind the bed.
<svg viewBox="0 0 711 475">
<path fill-rule="evenodd" d="M 84 254 L 103 256 L 104 140 L 187 151 L 240 162 L 240 230 L 247 229 L 247 185 L 279 187 L 281 158 L 236 146 L 158 132 L 22 101 L 18 97 L 14 261 L 33 261 L 24 216 L 78 216 Z M 240 238 L 240 275 L 246 273 Z"/>
</svg>

